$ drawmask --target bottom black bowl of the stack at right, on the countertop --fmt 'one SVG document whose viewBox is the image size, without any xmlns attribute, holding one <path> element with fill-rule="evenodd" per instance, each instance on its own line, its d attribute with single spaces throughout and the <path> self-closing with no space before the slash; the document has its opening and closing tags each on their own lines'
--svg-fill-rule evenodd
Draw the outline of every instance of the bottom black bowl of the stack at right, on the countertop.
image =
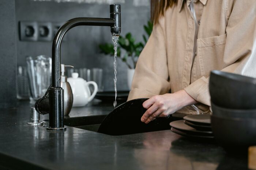
<svg viewBox="0 0 256 170">
<path fill-rule="evenodd" d="M 227 151 L 246 151 L 256 145 L 256 118 L 225 118 L 211 116 L 216 142 Z"/>
</svg>

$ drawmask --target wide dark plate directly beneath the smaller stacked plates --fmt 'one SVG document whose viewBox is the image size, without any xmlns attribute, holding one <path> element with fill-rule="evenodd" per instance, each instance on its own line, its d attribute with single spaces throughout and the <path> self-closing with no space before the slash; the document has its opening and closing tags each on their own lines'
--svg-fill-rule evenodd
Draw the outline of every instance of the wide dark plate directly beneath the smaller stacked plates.
<svg viewBox="0 0 256 170">
<path fill-rule="evenodd" d="M 172 126 L 174 129 L 177 129 L 179 131 L 182 131 L 186 134 L 190 135 L 199 135 L 199 136 L 212 136 L 212 131 L 201 131 L 196 130 L 195 128 L 188 126 L 183 122 L 184 120 L 177 120 L 170 123 L 170 126 Z"/>
</svg>

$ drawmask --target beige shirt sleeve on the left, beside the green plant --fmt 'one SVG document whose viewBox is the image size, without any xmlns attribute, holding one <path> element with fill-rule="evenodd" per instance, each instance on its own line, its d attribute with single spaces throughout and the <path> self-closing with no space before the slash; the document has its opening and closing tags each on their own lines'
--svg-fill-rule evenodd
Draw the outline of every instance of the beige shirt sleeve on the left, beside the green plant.
<svg viewBox="0 0 256 170">
<path fill-rule="evenodd" d="M 150 98 L 170 91 L 166 55 L 163 27 L 160 23 L 155 24 L 139 56 L 128 100 Z"/>
</svg>

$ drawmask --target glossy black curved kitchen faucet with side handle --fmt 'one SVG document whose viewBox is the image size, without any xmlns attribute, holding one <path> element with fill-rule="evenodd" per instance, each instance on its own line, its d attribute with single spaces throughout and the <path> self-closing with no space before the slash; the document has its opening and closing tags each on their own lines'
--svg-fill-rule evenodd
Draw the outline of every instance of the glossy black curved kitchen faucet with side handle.
<svg viewBox="0 0 256 170">
<path fill-rule="evenodd" d="M 64 23 L 57 31 L 52 44 L 52 85 L 45 95 L 35 103 L 35 109 L 40 114 L 49 113 L 47 130 L 65 130 L 64 127 L 64 96 L 60 87 L 60 46 L 65 33 L 79 25 L 110 26 L 112 35 L 121 32 L 120 4 L 110 5 L 110 18 L 74 18 Z"/>
</svg>

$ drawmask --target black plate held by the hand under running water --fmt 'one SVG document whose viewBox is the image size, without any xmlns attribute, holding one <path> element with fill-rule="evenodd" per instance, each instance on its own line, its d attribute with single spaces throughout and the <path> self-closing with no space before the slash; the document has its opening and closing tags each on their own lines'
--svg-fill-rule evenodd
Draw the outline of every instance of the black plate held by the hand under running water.
<svg viewBox="0 0 256 170">
<path fill-rule="evenodd" d="M 140 121 L 145 113 L 142 103 L 147 98 L 134 99 L 115 108 L 101 123 L 98 132 L 108 135 L 125 135 L 149 131 L 168 130 L 170 118 L 156 118 L 148 124 Z"/>
</svg>

